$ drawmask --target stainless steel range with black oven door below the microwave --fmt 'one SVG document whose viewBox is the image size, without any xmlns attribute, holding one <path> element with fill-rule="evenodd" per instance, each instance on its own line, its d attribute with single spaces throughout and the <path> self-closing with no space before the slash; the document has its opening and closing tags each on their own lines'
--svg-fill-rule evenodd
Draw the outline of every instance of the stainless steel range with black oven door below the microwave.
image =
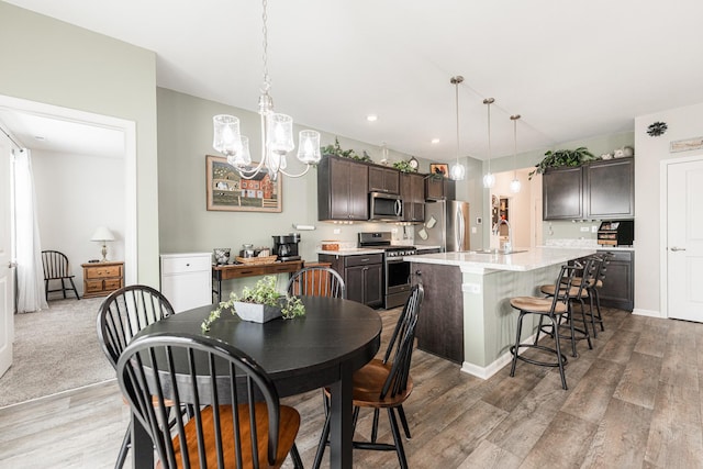
<svg viewBox="0 0 703 469">
<path fill-rule="evenodd" d="M 391 245 L 390 232 L 359 233 L 360 248 L 383 249 L 383 308 L 405 304 L 410 295 L 410 263 L 403 256 L 415 253 L 415 246 Z"/>
</svg>

